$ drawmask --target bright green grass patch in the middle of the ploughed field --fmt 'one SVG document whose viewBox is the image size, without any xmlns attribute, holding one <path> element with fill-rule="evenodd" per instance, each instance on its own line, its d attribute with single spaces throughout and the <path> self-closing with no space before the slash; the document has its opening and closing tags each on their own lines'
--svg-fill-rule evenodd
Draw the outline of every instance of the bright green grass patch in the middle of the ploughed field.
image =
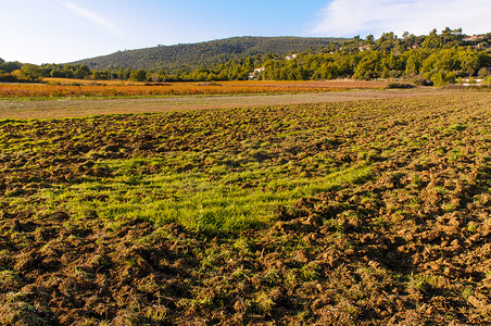
<svg viewBox="0 0 491 326">
<path fill-rule="evenodd" d="M 370 177 L 368 165 L 327 172 L 317 177 L 292 176 L 281 166 L 224 171 L 222 178 L 211 180 L 210 173 L 148 176 L 128 174 L 128 168 L 133 170 L 129 161 L 108 164 L 121 174 L 87 179 L 65 189 L 47 189 L 42 193 L 43 205 L 63 208 L 75 218 L 97 212 L 108 221 L 138 217 L 159 225 L 176 222 L 194 231 L 232 233 L 270 224 L 278 206 L 292 205 L 302 197 Z M 243 187 L 244 183 L 255 186 Z"/>
</svg>

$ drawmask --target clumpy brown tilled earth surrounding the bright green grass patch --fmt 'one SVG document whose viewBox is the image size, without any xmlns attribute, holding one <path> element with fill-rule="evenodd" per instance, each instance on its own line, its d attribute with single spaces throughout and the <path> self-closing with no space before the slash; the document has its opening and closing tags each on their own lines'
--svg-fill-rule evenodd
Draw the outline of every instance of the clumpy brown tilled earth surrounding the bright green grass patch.
<svg viewBox="0 0 491 326">
<path fill-rule="evenodd" d="M 0 124 L 0 324 L 491 323 L 489 92 L 227 110 L 213 115 L 222 134 L 205 133 L 206 114 Z M 269 127 L 287 117 L 298 124 Z M 164 126 L 181 138 L 158 137 Z M 203 142 L 232 152 L 240 142 L 224 135 L 273 143 L 306 128 L 328 137 L 275 147 L 264 164 L 325 153 L 372 177 L 279 208 L 265 228 L 213 235 L 32 209 L 41 188 L 113 173 L 93 161 Z"/>
</svg>

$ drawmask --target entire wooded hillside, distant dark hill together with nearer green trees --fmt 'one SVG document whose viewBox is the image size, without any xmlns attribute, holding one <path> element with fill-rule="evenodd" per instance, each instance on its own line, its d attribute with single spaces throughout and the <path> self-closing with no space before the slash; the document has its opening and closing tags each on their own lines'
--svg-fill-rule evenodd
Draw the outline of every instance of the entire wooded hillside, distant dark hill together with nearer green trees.
<svg viewBox="0 0 491 326">
<path fill-rule="evenodd" d="M 378 39 L 238 37 L 117 52 L 73 64 L 0 60 L 0 82 L 43 77 L 159 83 L 396 78 L 418 85 L 490 85 L 491 33 L 469 36 L 448 27 L 420 36 L 390 32 Z"/>
</svg>

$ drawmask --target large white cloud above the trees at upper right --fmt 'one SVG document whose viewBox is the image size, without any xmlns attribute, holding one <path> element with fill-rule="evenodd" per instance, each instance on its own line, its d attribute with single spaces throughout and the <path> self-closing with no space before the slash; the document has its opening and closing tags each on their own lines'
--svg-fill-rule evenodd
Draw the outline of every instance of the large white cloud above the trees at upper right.
<svg viewBox="0 0 491 326">
<path fill-rule="evenodd" d="M 405 30 L 424 35 L 462 27 L 465 34 L 491 32 L 489 0 L 333 0 L 319 13 L 315 35 L 376 37 Z"/>
</svg>

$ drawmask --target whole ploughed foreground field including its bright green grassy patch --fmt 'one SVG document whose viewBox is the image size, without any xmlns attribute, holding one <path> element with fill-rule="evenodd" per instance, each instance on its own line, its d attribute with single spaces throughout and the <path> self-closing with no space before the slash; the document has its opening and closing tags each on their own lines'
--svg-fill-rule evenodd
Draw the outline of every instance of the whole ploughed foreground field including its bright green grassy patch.
<svg viewBox="0 0 491 326">
<path fill-rule="evenodd" d="M 0 324 L 491 323 L 491 95 L 363 93 L 0 121 Z"/>
</svg>

